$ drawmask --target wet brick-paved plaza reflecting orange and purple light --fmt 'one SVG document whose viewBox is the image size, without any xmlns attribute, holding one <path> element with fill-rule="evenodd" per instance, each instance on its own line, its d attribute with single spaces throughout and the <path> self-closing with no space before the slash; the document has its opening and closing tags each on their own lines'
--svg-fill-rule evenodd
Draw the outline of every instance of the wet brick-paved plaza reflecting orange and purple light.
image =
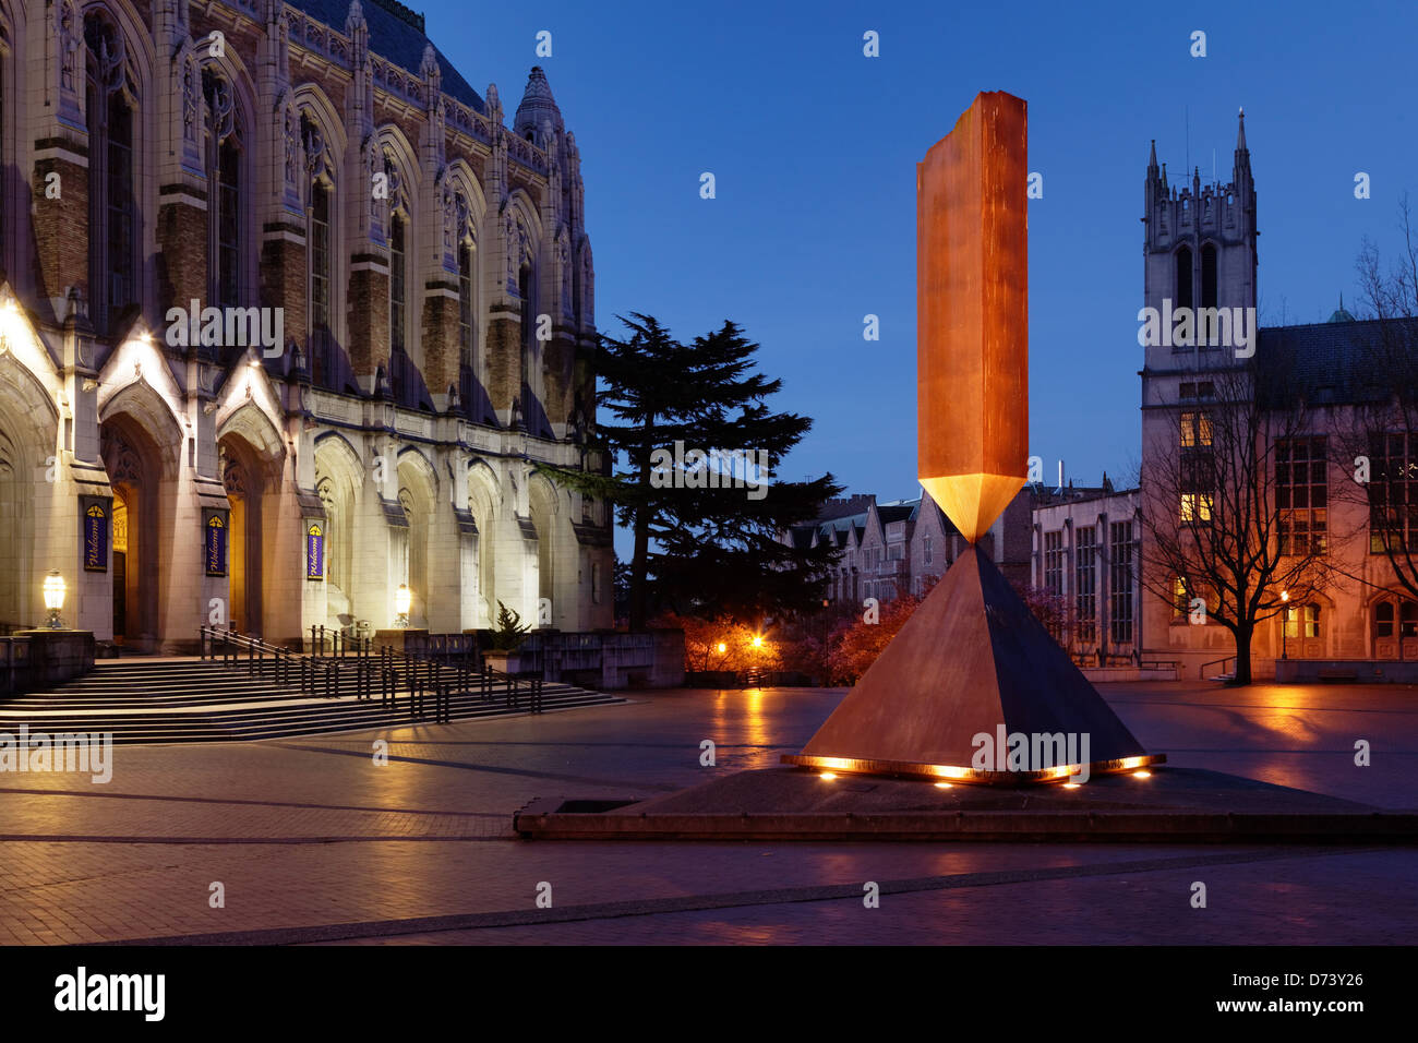
<svg viewBox="0 0 1418 1043">
<path fill-rule="evenodd" d="M 0 773 L 0 942 L 1411 942 L 1418 851 L 510 839 L 537 796 L 635 798 L 795 751 L 841 690 L 387 734 L 115 748 L 113 779 Z M 1418 806 L 1407 688 L 1109 685 L 1174 763 Z M 700 741 L 718 765 L 699 765 Z M 1374 748 L 1353 765 L 1354 738 Z M 225 904 L 211 908 L 211 884 Z M 859 897 L 881 890 L 879 908 Z M 1191 885 L 1208 907 L 1190 905 Z M 552 907 L 539 908 L 550 884 Z M 543 891 L 546 888 L 542 888 Z M 435 920 L 430 920 L 435 918 Z"/>
</svg>

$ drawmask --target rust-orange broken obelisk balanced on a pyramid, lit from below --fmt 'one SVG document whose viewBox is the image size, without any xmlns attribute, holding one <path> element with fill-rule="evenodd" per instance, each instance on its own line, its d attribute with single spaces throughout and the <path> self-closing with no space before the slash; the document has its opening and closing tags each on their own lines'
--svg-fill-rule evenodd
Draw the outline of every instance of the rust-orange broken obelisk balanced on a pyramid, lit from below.
<svg viewBox="0 0 1418 1043">
<path fill-rule="evenodd" d="M 1028 458 L 1025 146 L 1024 101 L 981 94 L 916 166 L 917 473 L 970 546 L 787 763 L 1020 783 L 1164 759 L 976 546 Z"/>
</svg>

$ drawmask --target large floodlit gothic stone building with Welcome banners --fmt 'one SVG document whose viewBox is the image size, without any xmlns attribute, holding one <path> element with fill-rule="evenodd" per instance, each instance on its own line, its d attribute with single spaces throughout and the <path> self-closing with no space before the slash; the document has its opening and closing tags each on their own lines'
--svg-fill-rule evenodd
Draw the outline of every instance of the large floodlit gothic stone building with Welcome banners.
<svg viewBox="0 0 1418 1043">
<path fill-rule="evenodd" d="M 611 623 L 580 153 L 394 0 L 0 0 L 0 623 Z M 207 309 L 218 309 L 216 312 Z M 184 318 L 194 312 L 191 319 Z M 211 321 L 216 315 L 217 321 Z"/>
</svg>

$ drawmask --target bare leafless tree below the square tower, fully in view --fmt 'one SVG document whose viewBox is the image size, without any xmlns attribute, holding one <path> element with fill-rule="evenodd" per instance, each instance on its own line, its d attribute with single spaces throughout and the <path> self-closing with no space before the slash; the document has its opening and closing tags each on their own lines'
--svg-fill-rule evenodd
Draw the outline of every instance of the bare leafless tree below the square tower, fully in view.
<svg viewBox="0 0 1418 1043">
<path fill-rule="evenodd" d="M 1168 407 L 1171 423 L 1146 454 L 1143 578 L 1188 619 L 1202 614 L 1200 599 L 1235 639 L 1235 684 L 1249 684 L 1256 626 L 1283 610 L 1282 592 L 1303 605 L 1329 582 L 1323 521 L 1309 504 L 1303 519 L 1282 509 L 1293 457 L 1309 465 L 1313 438 L 1283 359 L 1200 376 L 1210 380 Z"/>
</svg>

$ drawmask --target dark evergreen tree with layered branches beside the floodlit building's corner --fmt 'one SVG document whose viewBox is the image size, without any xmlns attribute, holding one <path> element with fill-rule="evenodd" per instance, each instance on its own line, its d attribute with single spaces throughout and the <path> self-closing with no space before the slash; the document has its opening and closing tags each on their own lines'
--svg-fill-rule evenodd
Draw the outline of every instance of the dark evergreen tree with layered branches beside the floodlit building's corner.
<svg viewBox="0 0 1418 1043">
<path fill-rule="evenodd" d="M 770 410 L 783 382 L 754 370 L 759 345 L 736 324 L 686 346 L 649 315 L 621 322 L 630 338 L 603 335 L 597 355 L 594 444 L 625 470 L 540 470 L 614 504 L 634 534 L 631 629 L 657 609 L 746 619 L 817 605 L 831 549 L 778 534 L 815 518 L 841 487 L 831 474 L 771 480 L 813 421 Z"/>
</svg>

